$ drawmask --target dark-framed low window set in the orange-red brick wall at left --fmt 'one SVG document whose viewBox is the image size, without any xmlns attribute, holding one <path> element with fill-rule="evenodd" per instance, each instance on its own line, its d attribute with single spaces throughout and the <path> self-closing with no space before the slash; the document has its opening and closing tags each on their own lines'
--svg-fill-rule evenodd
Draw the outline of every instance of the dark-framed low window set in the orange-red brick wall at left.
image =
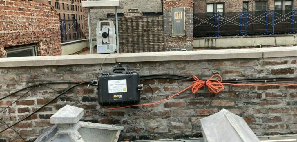
<svg viewBox="0 0 297 142">
<path fill-rule="evenodd" d="M 16 47 L 5 47 L 7 57 L 29 57 L 37 56 L 37 44 L 22 45 Z"/>
</svg>

